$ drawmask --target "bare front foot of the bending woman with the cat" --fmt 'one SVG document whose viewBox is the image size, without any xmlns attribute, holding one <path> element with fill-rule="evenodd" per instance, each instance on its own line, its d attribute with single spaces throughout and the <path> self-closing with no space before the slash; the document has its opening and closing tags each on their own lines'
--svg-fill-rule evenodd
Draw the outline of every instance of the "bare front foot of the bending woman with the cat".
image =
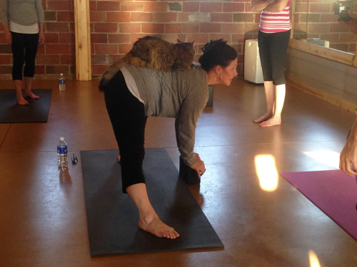
<svg viewBox="0 0 357 267">
<path fill-rule="evenodd" d="M 176 239 L 176 237 L 180 236 L 174 228 L 164 224 L 157 215 L 151 221 L 140 220 L 139 228 L 154 234 L 154 236 L 166 239 Z"/>
</svg>

